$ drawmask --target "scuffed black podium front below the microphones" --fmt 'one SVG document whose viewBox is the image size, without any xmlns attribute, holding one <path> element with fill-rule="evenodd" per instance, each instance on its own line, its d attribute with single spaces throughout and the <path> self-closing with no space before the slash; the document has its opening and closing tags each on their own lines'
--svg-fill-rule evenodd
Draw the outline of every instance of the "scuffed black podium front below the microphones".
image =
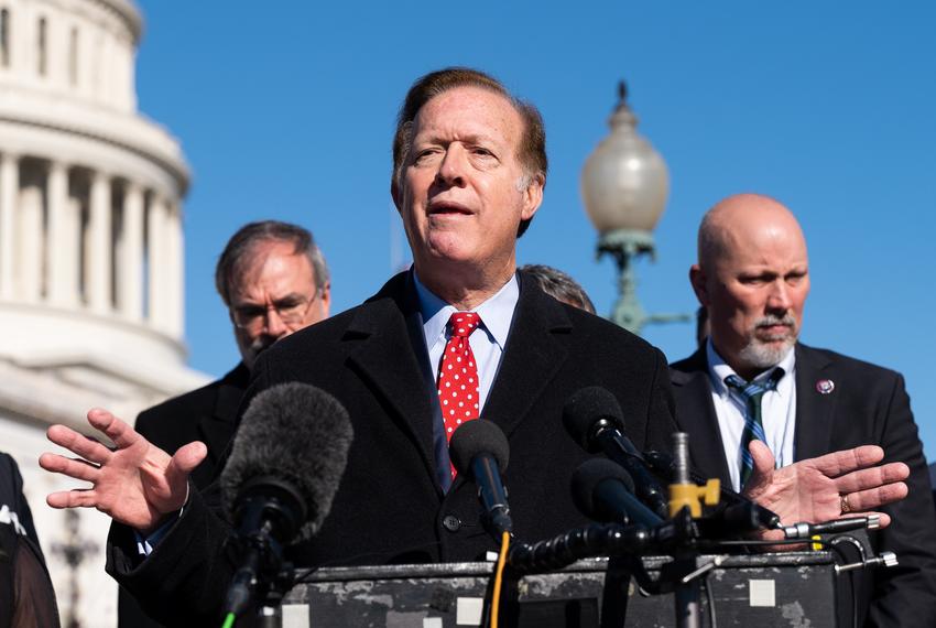
<svg viewBox="0 0 936 628">
<path fill-rule="evenodd" d="M 651 556 L 655 577 L 672 559 Z M 836 574 L 829 552 L 703 555 L 703 626 L 836 626 Z M 717 564 L 717 566 L 715 566 Z M 603 628 L 609 561 L 504 578 L 503 628 Z M 491 563 L 448 563 L 300 570 L 275 618 L 283 628 L 460 628 L 481 626 Z M 627 581 L 623 581 L 627 582 Z M 644 596 L 633 580 L 625 594 L 627 627 L 675 625 L 673 594 Z M 612 596 L 613 597 L 613 596 Z M 607 604 L 607 602 L 606 602 Z M 606 617 L 606 621 L 607 621 Z"/>
</svg>

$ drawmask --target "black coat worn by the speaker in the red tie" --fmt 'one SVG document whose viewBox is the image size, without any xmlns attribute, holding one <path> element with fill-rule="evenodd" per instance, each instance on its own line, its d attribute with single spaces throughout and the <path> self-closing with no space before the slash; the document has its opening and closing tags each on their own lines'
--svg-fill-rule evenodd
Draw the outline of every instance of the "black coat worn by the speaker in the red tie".
<svg viewBox="0 0 936 628">
<path fill-rule="evenodd" d="M 355 430 L 329 517 L 312 542 L 291 550 L 301 566 L 466 561 L 496 549 L 480 523 L 476 488 L 459 476 L 444 492 L 436 478 L 438 401 L 411 281 L 396 275 L 363 305 L 280 340 L 258 361 L 248 397 L 279 382 L 313 383 L 347 408 Z M 674 423 L 663 355 L 521 275 L 482 412 L 510 442 L 504 481 L 521 540 L 585 521 L 572 504 L 569 478 L 587 454 L 565 433 L 562 408 L 586 386 L 616 394 L 638 447 L 667 447 Z M 197 492 L 142 564 L 128 534 L 115 526 L 109 545 L 108 571 L 122 585 L 151 609 L 170 613 L 167 619 L 182 621 L 186 611 L 215 619 L 232 567 L 220 542 L 227 529 Z M 172 606 L 161 604 L 165 596 Z"/>
</svg>

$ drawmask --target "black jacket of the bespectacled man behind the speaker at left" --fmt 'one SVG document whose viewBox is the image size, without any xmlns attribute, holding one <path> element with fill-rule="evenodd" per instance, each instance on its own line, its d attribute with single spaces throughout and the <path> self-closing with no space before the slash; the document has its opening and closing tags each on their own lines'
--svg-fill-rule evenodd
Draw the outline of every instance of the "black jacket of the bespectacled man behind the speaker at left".
<svg viewBox="0 0 936 628">
<path fill-rule="evenodd" d="M 137 431 L 157 447 L 174 454 L 181 446 L 202 441 L 208 456 L 192 472 L 198 488 L 211 484 L 220 473 L 220 461 L 237 430 L 240 400 L 250 383 L 243 362 L 217 381 L 168 399 L 137 416 Z M 123 588 L 117 598 L 117 625 L 121 628 L 159 628 Z"/>
</svg>

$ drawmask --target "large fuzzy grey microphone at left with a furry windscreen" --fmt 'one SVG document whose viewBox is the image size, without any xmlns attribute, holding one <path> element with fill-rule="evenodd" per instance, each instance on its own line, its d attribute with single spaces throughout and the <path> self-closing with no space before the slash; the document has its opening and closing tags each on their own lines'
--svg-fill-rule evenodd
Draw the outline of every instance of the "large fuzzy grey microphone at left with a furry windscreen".
<svg viewBox="0 0 936 628">
<path fill-rule="evenodd" d="M 220 476 L 222 506 L 244 550 L 226 614 L 243 614 L 258 587 L 279 575 L 283 545 L 322 527 L 352 437 L 347 410 L 314 386 L 281 383 L 250 402 Z"/>
</svg>

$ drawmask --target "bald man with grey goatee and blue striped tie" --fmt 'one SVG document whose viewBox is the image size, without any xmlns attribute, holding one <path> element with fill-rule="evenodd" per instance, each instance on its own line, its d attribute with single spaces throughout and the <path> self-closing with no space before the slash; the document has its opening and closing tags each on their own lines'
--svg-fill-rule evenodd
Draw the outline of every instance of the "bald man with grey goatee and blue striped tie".
<svg viewBox="0 0 936 628">
<path fill-rule="evenodd" d="M 837 477 L 828 454 L 877 445 L 857 451 L 908 470 L 906 497 L 880 509 L 891 524 L 870 533 L 873 551 L 900 564 L 858 578 L 856 625 L 936 626 L 932 488 L 903 377 L 798 342 L 810 281 L 796 218 L 766 196 L 721 201 L 703 218 L 689 280 L 711 333 L 671 377 L 697 470 L 763 504 L 777 476 L 807 461 L 839 483 L 837 509 L 848 516 L 879 496 Z M 841 625 L 850 613 L 839 605 Z"/>
</svg>

